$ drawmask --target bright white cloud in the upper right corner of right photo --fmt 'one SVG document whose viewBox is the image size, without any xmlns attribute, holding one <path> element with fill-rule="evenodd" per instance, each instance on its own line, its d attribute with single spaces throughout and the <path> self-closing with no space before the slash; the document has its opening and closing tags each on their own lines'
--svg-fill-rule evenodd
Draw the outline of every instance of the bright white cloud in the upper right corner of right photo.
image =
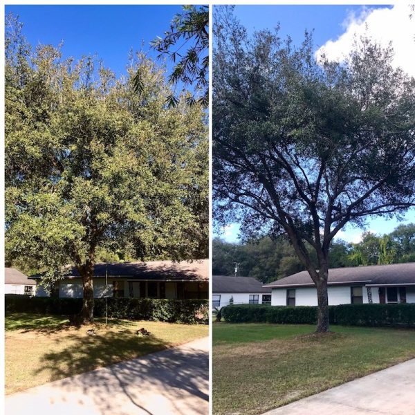
<svg viewBox="0 0 415 415">
<path fill-rule="evenodd" d="M 392 42 L 394 65 L 415 77 L 415 16 L 409 19 L 410 13 L 411 9 L 405 4 L 397 4 L 393 8 L 362 7 L 359 15 L 351 12 L 342 24 L 344 33 L 338 39 L 326 42 L 317 50 L 316 56 L 324 52 L 331 60 L 342 60 L 353 47 L 354 35 L 359 37 L 367 30 L 367 34 L 382 46 Z"/>
</svg>

